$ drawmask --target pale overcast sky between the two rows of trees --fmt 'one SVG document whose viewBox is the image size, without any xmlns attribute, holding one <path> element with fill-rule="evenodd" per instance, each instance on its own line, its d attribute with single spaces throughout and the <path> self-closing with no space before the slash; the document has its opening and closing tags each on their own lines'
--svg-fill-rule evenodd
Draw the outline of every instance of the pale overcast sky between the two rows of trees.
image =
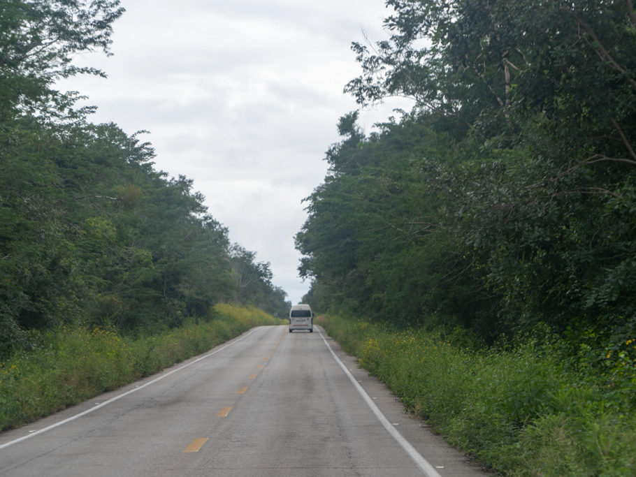
<svg viewBox="0 0 636 477">
<path fill-rule="evenodd" d="M 323 182 L 342 93 L 360 73 L 352 41 L 386 38 L 384 0 L 122 0 L 113 57 L 84 55 L 108 79 L 62 83 L 99 109 L 92 122 L 150 131 L 155 168 L 194 179 L 232 242 L 270 262 L 296 303 L 301 200 Z M 366 132 L 398 103 L 362 112 Z"/>
</svg>

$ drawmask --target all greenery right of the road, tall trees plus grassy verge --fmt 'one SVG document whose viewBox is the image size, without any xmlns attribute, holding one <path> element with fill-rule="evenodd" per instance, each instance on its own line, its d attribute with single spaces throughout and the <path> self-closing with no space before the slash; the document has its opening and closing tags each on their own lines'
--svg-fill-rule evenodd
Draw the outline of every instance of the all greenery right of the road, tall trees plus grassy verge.
<svg viewBox="0 0 636 477">
<path fill-rule="evenodd" d="M 345 90 L 413 108 L 340 118 L 296 235 L 303 300 L 501 473 L 633 475 L 633 1 L 386 5 Z"/>
</svg>

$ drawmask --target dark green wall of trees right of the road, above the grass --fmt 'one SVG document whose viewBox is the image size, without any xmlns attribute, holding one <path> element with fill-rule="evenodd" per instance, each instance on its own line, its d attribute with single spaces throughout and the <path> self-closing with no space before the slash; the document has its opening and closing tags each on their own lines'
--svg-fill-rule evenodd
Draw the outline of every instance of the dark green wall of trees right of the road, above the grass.
<svg viewBox="0 0 636 477">
<path fill-rule="evenodd" d="M 539 323 L 573 343 L 633 337 L 633 3 L 386 4 L 390 38 L 354 43 L 345 90 L 415 106 L 370 135 L 340 119 L 296 236 L 307 299 L 490 342 Z"/>
</svg>

